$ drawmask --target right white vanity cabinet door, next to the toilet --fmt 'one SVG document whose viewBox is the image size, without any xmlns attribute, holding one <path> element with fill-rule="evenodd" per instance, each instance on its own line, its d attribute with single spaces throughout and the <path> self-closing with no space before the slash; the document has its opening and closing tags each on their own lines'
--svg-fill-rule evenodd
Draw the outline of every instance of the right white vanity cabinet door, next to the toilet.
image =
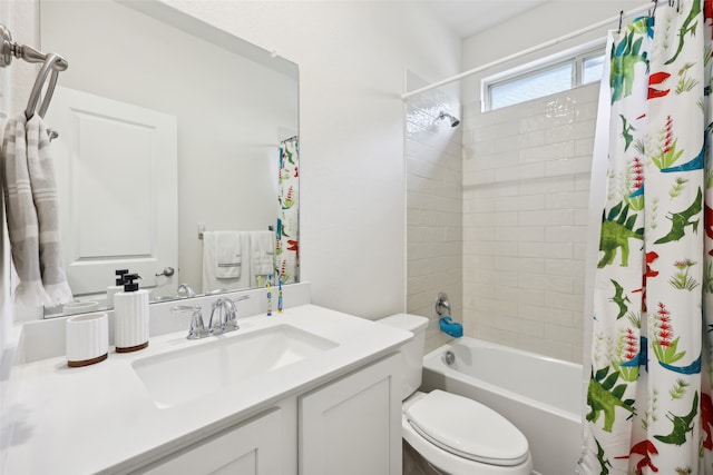
<svg viewBox="0 0 713 475">
<path fill-rule="evenodd" d="M 399 368 L 390 356 L 300 398 L 300 474 L 401 475 Z"/>
</svg>

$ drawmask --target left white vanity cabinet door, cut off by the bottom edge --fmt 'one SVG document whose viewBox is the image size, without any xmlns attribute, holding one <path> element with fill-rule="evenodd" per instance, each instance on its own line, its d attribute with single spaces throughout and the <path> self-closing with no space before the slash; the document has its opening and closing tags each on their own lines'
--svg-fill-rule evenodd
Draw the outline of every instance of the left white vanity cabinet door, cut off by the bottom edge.
<svg viewBox="0 0 713 475">
<path fill-rule="evenodd" d="M 281 410 L 202 441 L 139 473 L 150 475 L 275 475 L 282 473 Z"/>
</svg>

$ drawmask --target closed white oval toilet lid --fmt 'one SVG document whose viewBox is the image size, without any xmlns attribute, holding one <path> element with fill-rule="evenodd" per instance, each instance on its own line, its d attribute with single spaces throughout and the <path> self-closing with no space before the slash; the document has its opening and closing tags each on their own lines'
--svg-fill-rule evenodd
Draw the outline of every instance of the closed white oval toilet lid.
<svg viewBox="0 0 713 475">
<path fill-rule="evenodd" d="M 406 409 L 409 424 L 440 448 L 490 465 L 527 459 L 522 433 L 491 408 L 467 397 L 434 389 Z"/>
</svg>

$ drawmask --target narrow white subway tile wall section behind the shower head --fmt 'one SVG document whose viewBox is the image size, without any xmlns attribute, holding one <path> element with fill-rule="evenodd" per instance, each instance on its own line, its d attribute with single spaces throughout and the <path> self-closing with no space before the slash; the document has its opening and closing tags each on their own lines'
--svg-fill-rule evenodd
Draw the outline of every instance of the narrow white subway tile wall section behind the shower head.
<svg viewBox="0 0 713 475">
<path fill-rule="evenodd" d="M 438 91 L 407 103 L 407 311 L 430 319 L 427 352 L 451 339 L 438 327 L 438 293 L 448 294 L 455 320 L 463 315 L 461 128 L 437 121 L 441 110 L 460 113 Z"/>
</svg>

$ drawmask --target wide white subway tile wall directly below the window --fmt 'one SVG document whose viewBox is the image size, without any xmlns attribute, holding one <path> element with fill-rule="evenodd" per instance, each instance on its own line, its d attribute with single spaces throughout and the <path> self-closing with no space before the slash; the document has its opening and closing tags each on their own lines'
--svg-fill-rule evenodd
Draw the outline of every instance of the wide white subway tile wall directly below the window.
<svg viewBox="0 0 713 475">
<path fill-rule="evenodd" d="M 467 335 L 582 362 L 597 95 L 463 107 Z"/>
</svg>

